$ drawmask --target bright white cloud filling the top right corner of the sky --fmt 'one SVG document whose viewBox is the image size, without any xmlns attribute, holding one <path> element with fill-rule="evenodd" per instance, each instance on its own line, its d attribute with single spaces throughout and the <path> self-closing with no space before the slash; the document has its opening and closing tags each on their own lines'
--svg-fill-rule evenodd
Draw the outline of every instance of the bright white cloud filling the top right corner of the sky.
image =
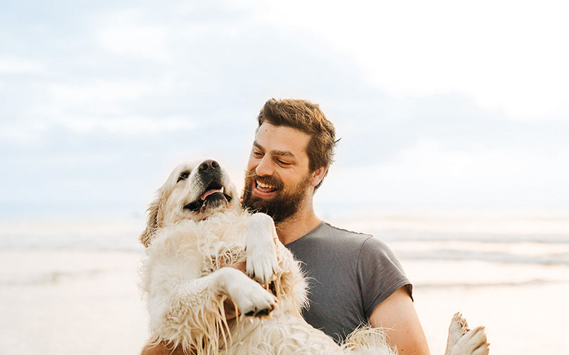
<svg viewBox="0 0 569 355">
<path fill-rule="evenodd" d="M 564 1 L 298 0 L 270 3 L 262 18 L 349 53 L 392 96 L 462 93 L 514 119 L 569 120 L 568 10 Z"/>
</svg>

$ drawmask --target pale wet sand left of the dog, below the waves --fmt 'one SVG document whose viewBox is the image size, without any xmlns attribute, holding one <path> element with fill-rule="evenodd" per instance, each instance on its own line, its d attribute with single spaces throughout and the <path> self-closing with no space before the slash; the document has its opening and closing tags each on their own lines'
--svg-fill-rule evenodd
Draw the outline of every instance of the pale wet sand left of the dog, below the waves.
<svg viewBox="0 0 569 355">
<path fill-rule="evenodd" d="M 0 354 L 137 354 L 146 335 L 139 259 L 136 252 L 0 252 Z"/>
</svg>

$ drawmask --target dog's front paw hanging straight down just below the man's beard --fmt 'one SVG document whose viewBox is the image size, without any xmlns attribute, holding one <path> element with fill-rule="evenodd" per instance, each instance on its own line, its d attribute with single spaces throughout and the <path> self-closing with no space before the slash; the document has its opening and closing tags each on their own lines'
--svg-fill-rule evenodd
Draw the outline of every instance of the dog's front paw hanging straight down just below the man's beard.
<svg viewBox="0 0 569 355">
<path fill-rule="evenodd" d="M 279 268 L 277 231 L 273 219 L 256 213 L 249 219 L 245 239 L 246 271 L 249 277 L 265 285 L 274 281 Z"/>
</svg>

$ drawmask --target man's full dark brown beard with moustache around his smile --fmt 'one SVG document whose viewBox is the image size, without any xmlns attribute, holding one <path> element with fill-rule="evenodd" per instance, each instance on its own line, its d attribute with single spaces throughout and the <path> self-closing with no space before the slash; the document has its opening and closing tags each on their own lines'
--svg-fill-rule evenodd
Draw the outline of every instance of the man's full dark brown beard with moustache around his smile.
<svg viewBox="0 0 569 355">
<path fill-rule="evenodd" d="M 277 193 L 273 198 L 264 199 L 253 195 L 255 181 L 261 181 L 277 188 Z M 275 176 L 258 176 L 256 172 L 245 172 L 245 183 L 241 196 L 241 205 L 252 213 L 264 213 L 273 218 L 275 223 L 279 223 L 292 217 L 306 198 L 306 189 L 310 186 L 311 174 L 307 174 L 302 181 L 295 186 L 284 188 L 284 183 Z"/>
</svg>

